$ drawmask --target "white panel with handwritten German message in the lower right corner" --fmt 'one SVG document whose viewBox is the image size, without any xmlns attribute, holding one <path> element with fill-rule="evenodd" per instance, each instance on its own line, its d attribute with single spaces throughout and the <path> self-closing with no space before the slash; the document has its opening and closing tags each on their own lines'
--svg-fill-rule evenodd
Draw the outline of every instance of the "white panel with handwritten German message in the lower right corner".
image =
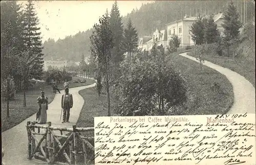
<svg viewBox="0 0 256 165">
<path fill-rule="evenodd" d="M 95 117 L 95 164 L 253 164 L 254 116 Z"/>
</svg>

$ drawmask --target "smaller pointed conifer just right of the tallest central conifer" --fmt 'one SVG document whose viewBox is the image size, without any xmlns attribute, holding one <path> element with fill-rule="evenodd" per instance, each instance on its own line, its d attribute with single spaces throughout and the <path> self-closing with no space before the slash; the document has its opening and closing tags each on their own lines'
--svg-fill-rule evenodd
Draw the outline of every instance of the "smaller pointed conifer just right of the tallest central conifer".
<svg viewBox="0 0 256 165">
<path fill-rule="evenodd" d="M 137 30 L 133 27 L 131 18 L 127 22 L 127 27 L 124 29 L 124 37 L 122 44 L 124 51 L 128 52 L 131 60 L 131 53 L 138 47 L 138 34 Z"/>
</svg>

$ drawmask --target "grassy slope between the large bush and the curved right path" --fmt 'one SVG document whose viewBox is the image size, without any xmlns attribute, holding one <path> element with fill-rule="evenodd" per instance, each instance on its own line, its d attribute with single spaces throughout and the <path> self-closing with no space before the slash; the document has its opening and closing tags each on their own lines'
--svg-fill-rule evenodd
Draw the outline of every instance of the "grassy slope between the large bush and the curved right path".
<svg viewBox="0 0 256 165">
<path fill-rule="evenodd" d="M 169 61 L 180 70 L 187 82 L 188 101 L 185 109 L 172 115 L 222 114 L 227 112 L 233 102 L 232 85 L 228 79 L 216 70 L 179 56 L 177 53 L 169 55 Z M 211 86 L 219 84 L 219 90 Z"/>
</svg>

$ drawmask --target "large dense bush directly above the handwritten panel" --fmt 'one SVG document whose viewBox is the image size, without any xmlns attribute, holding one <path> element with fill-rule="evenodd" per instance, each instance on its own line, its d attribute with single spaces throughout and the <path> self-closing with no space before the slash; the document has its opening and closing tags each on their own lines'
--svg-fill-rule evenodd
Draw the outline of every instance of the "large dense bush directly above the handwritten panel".
<svg viewBox="0 0 256 165">
<path fill-rule="evenodd" d="M 122 76 L 114 88 L 119 98 L 115 112 L 128 116 L 164 115 L 168 106 L 184 103 L 185 81 L 175 67 L 167 64 L 162 46 L 153 46 L 148 59 L 140 56 L 143 53 L 138 53 L 131 62 L 121 63 Z"/>
</svg>

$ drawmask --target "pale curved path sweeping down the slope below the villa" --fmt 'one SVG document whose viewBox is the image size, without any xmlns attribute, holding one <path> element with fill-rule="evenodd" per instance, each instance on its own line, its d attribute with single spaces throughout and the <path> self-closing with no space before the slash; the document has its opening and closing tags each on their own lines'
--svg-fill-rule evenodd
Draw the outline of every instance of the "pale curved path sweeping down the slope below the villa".
<svg viewBox="0 0 256 165">
<path fill-rule="evenodd" d="M 199 62 L 195 57 L 188 56 L 187 53 L 181 53 L 180 56 Z M 255 113 L 255 88 L 243 76 L 232 70 L 204 61 L 204 65 L 213 68 L 225 75 L 233 87 L 234 100 L 233 105 L 227 114 L 235 113 Z"/>
</svg>

